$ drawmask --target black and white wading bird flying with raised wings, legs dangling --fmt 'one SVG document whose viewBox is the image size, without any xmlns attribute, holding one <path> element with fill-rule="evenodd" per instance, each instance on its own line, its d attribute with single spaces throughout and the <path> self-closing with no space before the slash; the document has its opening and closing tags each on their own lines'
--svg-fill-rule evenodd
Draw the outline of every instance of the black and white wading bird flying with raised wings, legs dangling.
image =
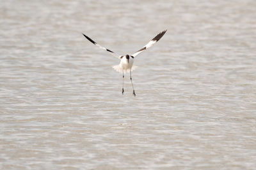
<svg viewBox="0 0 256 170">
<path fill-rule="evenodd" d="M 113 69 L 115 69 L 116 71 L 118 71 L 119 73 L 123 74 L 123 88 L 122 88 L 122 94 L 124 95 L 124 73 L 130 72 L 130 80 L 132 83 L 132 70 L 134 70 L 136 68 L 136 66 L 133 66 L 133 62 L 134 62 L 134 57 L 136 57 L 137 55 L 139 55 L 141 52 L 144 52 L 147 48 L 150 48 L 152 45 L 154 45 L 157 41 L 159 41 L 159 39 L 161 39 L 163 37 L 163 35 L 165 34 L 167 30 L 164 30 L 162 32 L 160 32 L 159 34 L 157 34 L 157 36 L 155 36 L 153 39 L 151 39 L 147 45 L 143 46 L 143 48 L 141 48 L 140 50 L 138 50 L 136 53 L 132 54 L 132 55 L 118 55 L 117 53 L 109 50 L 108 48 L 105 48 L 103 46 L 100 46 L 99 44 L 97 44 L 95 41 L 93 41 L 91 38 L 89 38 L 88 36 L 86 36 L 85 34 L 84 37 L 87 38 L 89 41 L 91 41 L 91 43 L 93 43 L 96 46 L 99 46 L 99 48 L 106 50 L 107 52 L 110 52 L 112 55 L 114 55 L 115 57 L 117 57 L 118 59 L 120 59 L 120 64 L 113 66 Z M 132 84 L 132 94 L 134 95 L 134 97 L 136 96 L 135 91 L 134 91 L 134 87 Z"/>
</svg>

